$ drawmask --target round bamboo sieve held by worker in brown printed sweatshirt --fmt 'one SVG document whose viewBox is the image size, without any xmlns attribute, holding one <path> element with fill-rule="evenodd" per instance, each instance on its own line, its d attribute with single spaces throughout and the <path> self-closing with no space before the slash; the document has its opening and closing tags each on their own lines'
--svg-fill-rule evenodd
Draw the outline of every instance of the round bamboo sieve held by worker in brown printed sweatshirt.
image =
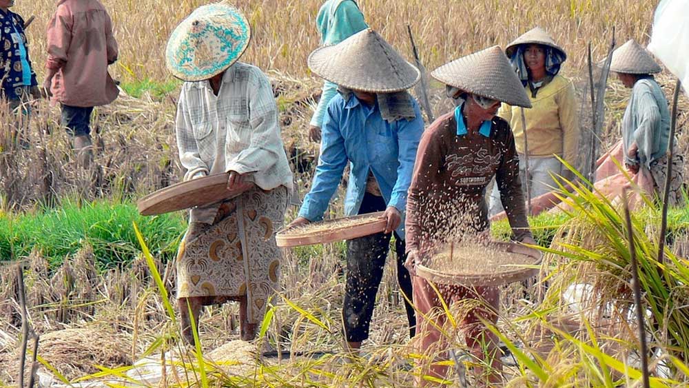
<svg viewBox="0 0 689 388">
<path fill-rule="evenodd" d="M 525 245 L 517 243 L 490 243 L 490 249 L 495 252 L 505 252 L 506 254 L 526 256 L 524 260 L 520 260 L 517 265 L 506 261 L 501 263 L 500 267 L 485 267 L 480 263 L 481 255 L 474 255 L 477 258 L 476 267 L 481 268 L 484 272 L 472 274 L 458 274 L 442 271 L 439 269 L 427 267 L 424 264 L 416 265 L 416 274 L 432 281 L 433 283 L 444 285 L 463 285 L 463 286 L 498 286 L 508 283 L 520 282 L 526 280 L 539 272 L 539 266 L 542 261 L 542 254 L 534 248 L 526 247 Z M 461 245 L 455 246 L 455 251 L 461 249 Z M 510 256 L 510 255 L 506 255 Z M 523 266 L 523 267 L 522 267 Z M 493 269 L 493 270 L 491 270 Z"/>
</svg>

